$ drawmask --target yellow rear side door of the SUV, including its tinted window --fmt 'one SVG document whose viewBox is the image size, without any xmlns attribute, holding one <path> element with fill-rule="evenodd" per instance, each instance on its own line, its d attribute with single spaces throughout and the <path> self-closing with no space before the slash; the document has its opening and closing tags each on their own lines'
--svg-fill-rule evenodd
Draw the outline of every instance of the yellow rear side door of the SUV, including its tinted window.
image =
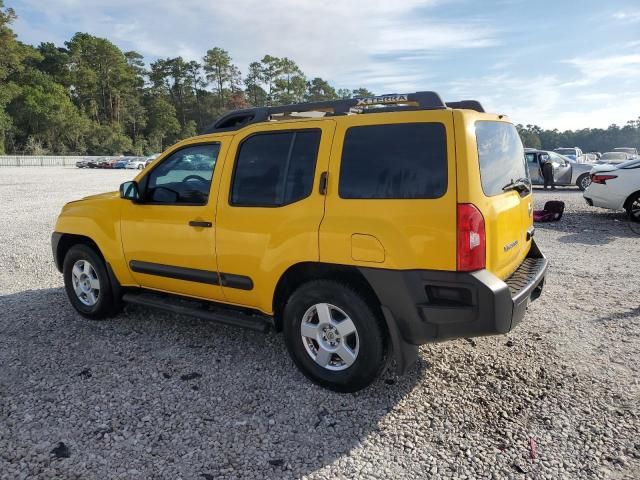
<svg viewBox="0 0 640 480">
<path fill-rule="evenodd" d="M 335 122 L 261 123 L 238 133 L 225 162 L 216 248 L 225 298 L 270 313 L 287 268 L 317 262 Z"/>
</svg>

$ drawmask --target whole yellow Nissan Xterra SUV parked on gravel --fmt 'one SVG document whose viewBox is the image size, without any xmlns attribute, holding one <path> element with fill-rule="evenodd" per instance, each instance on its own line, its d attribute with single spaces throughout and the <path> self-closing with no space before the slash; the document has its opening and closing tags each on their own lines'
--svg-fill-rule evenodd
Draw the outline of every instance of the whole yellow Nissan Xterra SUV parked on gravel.
<svg viewBox="0 0 640 480">
<path fill-rule="evenodd" d="M 541 293 L 518 133 L 434 92 L 235 111 L 52 236 L 71 304 L 283 331 L 337 391 L 417 345 L 505 333 Z"/>
</svg>

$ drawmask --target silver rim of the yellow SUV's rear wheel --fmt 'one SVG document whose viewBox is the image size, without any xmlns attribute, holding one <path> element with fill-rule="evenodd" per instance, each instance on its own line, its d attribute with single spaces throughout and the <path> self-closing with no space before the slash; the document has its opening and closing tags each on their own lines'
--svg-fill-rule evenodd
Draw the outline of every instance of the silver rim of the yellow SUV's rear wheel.
<svg viewBox="0 0 640 480">
<path fill-rule="evenodd" d="M 302 317 L 302 344 L 322 368 L 346 370 L 358 358 L 360 339 L 353 320 L 329 303 L 310 307 Z"/>
</svg>

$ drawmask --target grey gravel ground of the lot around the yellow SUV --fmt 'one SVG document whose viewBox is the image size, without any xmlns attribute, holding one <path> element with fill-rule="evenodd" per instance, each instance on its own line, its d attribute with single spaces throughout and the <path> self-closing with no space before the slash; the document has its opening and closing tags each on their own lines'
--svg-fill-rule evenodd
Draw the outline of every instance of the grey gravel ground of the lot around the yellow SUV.
<svg viewBox="0 0 640 480">
<path fill-rule="evenodd" d="M 282 337 L 128 307 L 76 315 L 49 235 L 131 171 L 0 169 L 0 478 L 640 478 L 640 228 L 559 198 L 546 289 L 506 336 L 428 345 L 357 394 Z"/>
</svg>

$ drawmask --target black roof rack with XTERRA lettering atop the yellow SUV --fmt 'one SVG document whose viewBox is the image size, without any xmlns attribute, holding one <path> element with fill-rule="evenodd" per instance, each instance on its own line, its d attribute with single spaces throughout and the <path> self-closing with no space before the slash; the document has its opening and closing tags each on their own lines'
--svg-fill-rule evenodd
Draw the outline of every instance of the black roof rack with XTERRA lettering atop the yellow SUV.
<svg viewBox="0 0 640 480">
<path fill-rule="evenodd" d="M 325 116 L 346 115 L 348 113 L 379 113 L 399 110 L 444 110 L 446 108 L 466 108 L 484 112 L 480 102 L 464 100 L 444 103 L 436 92 L 394 93 L 374 97 L 357 97 L 326 102 L 297 103 L 277 107 L 256 107 L 234 110 L 223 115 L 204 133 L 238 130 L 246 125 L 281 118 L 305 118 L 308 112 L 324 112 Z M 303 114 L 303 115 L 300 115 Z"/>
</svg>

